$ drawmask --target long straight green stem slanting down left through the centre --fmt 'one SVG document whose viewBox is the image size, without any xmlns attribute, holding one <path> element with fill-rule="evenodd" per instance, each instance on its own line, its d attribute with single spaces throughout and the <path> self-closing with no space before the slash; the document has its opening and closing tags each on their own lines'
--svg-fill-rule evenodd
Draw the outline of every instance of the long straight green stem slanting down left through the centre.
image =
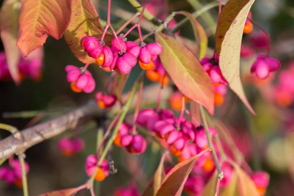
<svg viewBox="0 0 294 196">
<path fill-rule="evenodd" d="M 97 164 L 97 168 L 96 168 L 96 171 L 94 172 L 94 174 L 91 176 L 91 178 L 89 179 L 89 187 L 93 186 L 93 181 L 94 181 L 94 178 L 95 178 L 95 174 L 96 172 L 98 171 L 98 168 L 99 166 L 101 165 L 102 161 L 104 160 L 104 158 L 106 157 L 106 154 L 109 150 L 109 148 L 111 147 L 117 133 L 119 132 L 119 128 L 121 126 L 121 124 L 123 123 L 123 120 L 127 114 L 127 112 L 129 111 L 129 108 L 130 108 L 130 105 L 131 105 L 131 102 L 134 98 L 134 95 L 139 87 L 139 81 L 137 81 L 135 84 L 134 84 L 134 87 L 130 93 L 130 96 L 129 98 L 127 99 L 127 102 L 125 103 L 125 105 L 123 106 L 123 111 L 122 111 L 122 114 L 118 120 L 118 123 L 116 125 L 116 127 L 114 128 L 113 132 L 112 132 L 112 135 L 111 137 L 109 138 L 108 140 L 108 143 L 106 144 L 105 146 L 105 149 L 103 150 L 103 152 L 101 153 L 101 156 L 99 157 L 99 160 L 98 160 L 98 164 Z"/>
</svg>

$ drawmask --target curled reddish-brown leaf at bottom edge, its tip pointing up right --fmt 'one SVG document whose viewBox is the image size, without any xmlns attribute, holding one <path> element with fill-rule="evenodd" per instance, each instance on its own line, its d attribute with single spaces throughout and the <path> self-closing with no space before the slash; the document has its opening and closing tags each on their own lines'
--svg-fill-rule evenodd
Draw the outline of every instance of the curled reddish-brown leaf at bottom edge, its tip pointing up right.
<svg viewBox="0 0 294 196">
<path fill-rule="evenodd" d="M 203 150 L 196 156 L 175 165 L 163 179 L 156 196 L 181 196 L 189 173 L 193 169 L 197 159 L 205 152 L 207 150 Z"/>
</svg>

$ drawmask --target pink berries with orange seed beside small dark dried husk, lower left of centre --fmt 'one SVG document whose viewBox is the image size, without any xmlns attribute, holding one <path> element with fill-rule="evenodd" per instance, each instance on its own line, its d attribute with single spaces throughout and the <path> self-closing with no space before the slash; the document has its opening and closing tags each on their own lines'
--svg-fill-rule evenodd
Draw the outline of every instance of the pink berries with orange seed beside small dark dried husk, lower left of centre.
<svg viewBox="0 0 294 196">
<path fill-rule="evenodd" d="M 99 156 L 90 154 L 85 163 L 85 170 L 89 177 L 91 177 L 97 169 Z M 106 159 L 103 159 L 101 165 L 98 167 L 98 170 L 95 174 L 95 179 L 97 181 L 102 181 L 109 175 L 109 165 Z"/>
</svg>

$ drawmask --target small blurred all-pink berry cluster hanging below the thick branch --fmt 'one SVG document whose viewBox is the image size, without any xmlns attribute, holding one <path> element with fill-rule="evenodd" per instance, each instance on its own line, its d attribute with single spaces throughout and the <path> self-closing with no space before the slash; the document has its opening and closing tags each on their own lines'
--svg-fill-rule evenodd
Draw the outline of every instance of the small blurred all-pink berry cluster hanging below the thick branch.
<svg viewBox="0 0 294 196">
<path fill-rule="evenodd" d="M 82 151 L 85 144 L 80 138 L 63 137 L 58 141 L 58 148 L 65 156 L 71 157 Z"/>
</svg>

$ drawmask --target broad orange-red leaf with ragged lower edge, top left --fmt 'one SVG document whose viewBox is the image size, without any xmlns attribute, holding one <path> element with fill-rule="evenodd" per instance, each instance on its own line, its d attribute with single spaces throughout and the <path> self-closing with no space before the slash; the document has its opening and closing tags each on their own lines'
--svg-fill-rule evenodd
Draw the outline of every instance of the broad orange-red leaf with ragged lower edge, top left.
<svg viewBox="0 0 294 196">
<path fill-rule="evenodd" d="M 23 0 L 17 46 L 28 55 L 51 35 L 60 39 L 71 20 L 72 0 Z"/>
</svg>

